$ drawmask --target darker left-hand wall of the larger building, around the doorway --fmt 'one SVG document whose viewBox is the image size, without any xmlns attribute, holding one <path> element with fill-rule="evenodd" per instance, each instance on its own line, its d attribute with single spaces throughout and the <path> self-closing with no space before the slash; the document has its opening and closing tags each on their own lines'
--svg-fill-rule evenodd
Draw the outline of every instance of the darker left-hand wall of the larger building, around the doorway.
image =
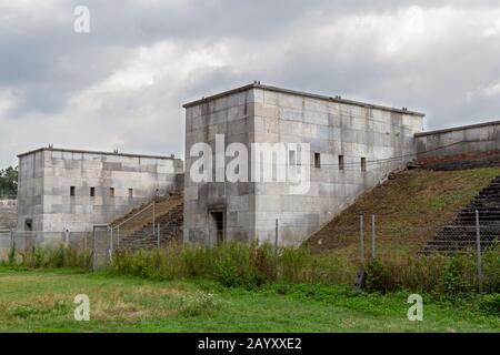
<svg viewBox="0 0 500 355">
<path fill-rule="evenodd" d="M 249 144 L 253 140 L 253 92 L 223 97 L 186 111 L 186 174 L 184 174 L 184 240 L 214 243 L 210 240 L 209 211 L 223 210 L 226 237 L 248 241 L 253 237 L 254 201 L 250 182 L 194 183 L 190 166 L 191 146 L 199 142 L 210 144 L 216 153 L 216 134 L 226 134 L 226 146 Z M 213 155 L 214 156 L 214 155 Z M 229 162 L 231 159 L 226 159 Z M 216 165 L 213 164 L 213 171 Z"/>
</svg>

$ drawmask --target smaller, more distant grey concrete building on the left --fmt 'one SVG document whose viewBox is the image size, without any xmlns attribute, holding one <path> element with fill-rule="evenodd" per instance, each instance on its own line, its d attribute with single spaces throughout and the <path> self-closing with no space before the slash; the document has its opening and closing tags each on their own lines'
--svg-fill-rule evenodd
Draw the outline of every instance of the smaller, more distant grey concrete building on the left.
<svg viewBox="0 0 500 355">
<path fill-rule="evenodd" d="M 19 156 L 20 231 L 84 232 L 173 189 L 182 161 L 42 148 Z"/>
</svg>

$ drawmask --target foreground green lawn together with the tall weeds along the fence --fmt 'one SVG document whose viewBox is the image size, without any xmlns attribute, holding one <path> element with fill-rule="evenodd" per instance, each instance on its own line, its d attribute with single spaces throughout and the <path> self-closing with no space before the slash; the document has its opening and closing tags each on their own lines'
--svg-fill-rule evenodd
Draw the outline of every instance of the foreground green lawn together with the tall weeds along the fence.
<svg viewBox="0 0 500 355">
<path fill-rule="evenodd" d="M 356 264 L 307 248 L 171 245 L 116 253 L 98 273 L 73 248 L 12 250 L 0 265 L 0 332 L 498 332 L 499 251 L 483 260 L 488 295 L 476 293 L 473 255 L 381 255 L 354 293 Z M 412 293 L 423 322 L 407 318 Z M 90 322 L 73 320 L 78 294 L 90 297 Z"/>
</svg>

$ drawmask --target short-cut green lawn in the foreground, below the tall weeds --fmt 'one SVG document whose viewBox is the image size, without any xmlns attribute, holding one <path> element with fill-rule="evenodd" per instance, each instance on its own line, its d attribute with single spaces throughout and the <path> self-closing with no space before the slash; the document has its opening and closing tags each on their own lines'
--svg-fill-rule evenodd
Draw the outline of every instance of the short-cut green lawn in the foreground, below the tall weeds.
<svg viewBox="0 0 500 355">
<path fill-rule="evenodd" d="M 90 297 L 90 322 L 73 298 Z M 498 332 L 500 318 L 426 303 L 407 320 L 407 293 L 352 294 L 340 286 L 224 288 L 208 281 L 154 282 L 77 270 L 0 267 L 0 332 Z"/>
</svg>

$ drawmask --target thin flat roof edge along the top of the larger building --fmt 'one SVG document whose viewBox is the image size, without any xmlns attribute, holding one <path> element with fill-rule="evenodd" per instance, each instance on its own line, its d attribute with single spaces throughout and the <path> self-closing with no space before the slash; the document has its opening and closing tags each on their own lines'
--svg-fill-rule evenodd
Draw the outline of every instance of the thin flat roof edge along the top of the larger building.
<svg viewBox="0 0 500 355">
<path fill-rule="evenodd" d="M 251 83 L 241 88 L 237 88 L 237 89 L 232 89 L 232 90 L 228 90 L 228 91 L 223 91 L 207 98 L 202 98 L 199 100 L 194 100 L 188 103 L 184 103 L 182 106 L 184 109 L 187 108 L 191 108 L 201 103 L 206 103 L 209 102 L 211 100 L 216 100 L 216 99 L 220 99 L 223 97 L 228 97 L 234 93 L 239 93 L 239 92 L 243 92 L 250 89 L 262 89 L 262 90 L 267 90 L 267 91 L 273 91 L 273 92 L 280 92 L 280 93 L 288 93 L 288 94 L 292 94 L 292 95 L 299 95 L 299 97 L 307 97 L 307 98 L 311 98 L 311 99 L 318 99 L 318 100 L 324 100 L 324 101 L 330 101 L 330 102 L 338 102 L 338 103 L 344 103 L 344 104 L 352 104 L 352 105 L 357 105 L 357 106 L 362 106 L 362 108 L 367 108 L 367 109 L 378 109 L 378 110 L 383 110 L 383 111 L 391 111 L 391 112 L 398 112 L 398 113 L 403 113 L 403 114 L 412 114 L 412 115 L 418 115 L 418 116 L 424 116 L 426 114 L 422 112 L 417 112 L 417 111 L 408 111 L 408 110 L 403 110 L 403 109 L 396 109 L 396 108 L 390 108 L 390 106 L 384 106 L 384 105 L 379 105 L 379 104 L 372 104 L 372 103 L 367 103 L 367 102 L 361 102 L 361 101 L 354 101 L 354 100 L 347 100 L 347 99 L 342 99 L 339 97 L 332 98 L 332 97 L 327 97 L 327 95 L 321 95 L 321 94 L 316 94 L 316 93 L 310 93 L 310 92 L 303 92 L 303 91 L 296 91 L 296 90 L 289 90 L 289 89 L 282 89 L 282 88 L 277 88 L 277 87 L 270 87 L 270 85 L 263 85 L 260 83 Z"/>
</svg>

